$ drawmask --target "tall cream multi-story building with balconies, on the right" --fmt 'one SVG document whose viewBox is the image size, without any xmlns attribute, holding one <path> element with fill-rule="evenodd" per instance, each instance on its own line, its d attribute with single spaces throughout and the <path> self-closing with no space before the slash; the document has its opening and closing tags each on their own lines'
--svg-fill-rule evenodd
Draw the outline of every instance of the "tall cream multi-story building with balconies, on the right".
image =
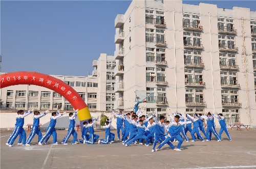
<svg viewBox="0 0 256 169">
<path fill-rule="evenodd" d="M 132 110 L 145 93 L 147 113 L 222 112 L 227 123 L 255 125 L 256 12 L 132 1 L 115 28 L 115 108 Z"/>
</svg>

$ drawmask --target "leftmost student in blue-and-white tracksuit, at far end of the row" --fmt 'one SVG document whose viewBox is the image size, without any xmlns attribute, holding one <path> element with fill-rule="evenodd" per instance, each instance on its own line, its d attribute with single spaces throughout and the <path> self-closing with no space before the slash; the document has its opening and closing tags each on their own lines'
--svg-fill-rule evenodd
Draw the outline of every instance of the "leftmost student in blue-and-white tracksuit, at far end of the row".
<svg viewBox="0 0 256 169">
<path fill-rule="evenodd" d="M 14 133 L 14 135 L 12 136 L 11 140 L 10 140 L 10 144 L 9 147 L 12 147 L 13 142 L 15 141 L 16 137 L 22 133 L 22 139 L 23 139 L 23 145 L 26 145 L 26 131 L 23 128 L 24 125 L 24 118 L 28 115 L 30 115 L 32 113 L 31 110 L 29 110 L 28 112 L 25 112 L 24 114 L 24 110 L 19 110 L 19 116 L 18 116 L 18 121 L 17 121 L 17 127 L 16 127 L 16 131 Z"/>
</svg>

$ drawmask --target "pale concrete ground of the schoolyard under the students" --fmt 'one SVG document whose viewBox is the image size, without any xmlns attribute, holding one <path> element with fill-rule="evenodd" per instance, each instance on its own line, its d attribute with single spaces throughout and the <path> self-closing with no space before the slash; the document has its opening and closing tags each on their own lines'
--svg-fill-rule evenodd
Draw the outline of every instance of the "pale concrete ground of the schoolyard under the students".
<svg viewBox="0 0 256 169">
<path fill-rule="evenodd" d="M 256 168 L 256 130 L 229 131 L 232 142 L 223 133 L 222 142 L 215 138 L 211 142 L 183 142 L 179 152 L 168 146 L 151 152 L 152 146 L 125 147 L 120 141 L 52 145 L 52 138 L 49 145 L 38 146 L 37 135 L 32 146 L 17 146 L 16 139 L 14 146 L 8 147 L 5 143 L 11 132 L 1 132 L 1 168 Z M 57 130 L 57 134 L 60 143 L 67 130 Z M 95 134 L 104 137 L 104 131 Z M 78 135 L 80 138 L 80 132 Z"/>
</svg>

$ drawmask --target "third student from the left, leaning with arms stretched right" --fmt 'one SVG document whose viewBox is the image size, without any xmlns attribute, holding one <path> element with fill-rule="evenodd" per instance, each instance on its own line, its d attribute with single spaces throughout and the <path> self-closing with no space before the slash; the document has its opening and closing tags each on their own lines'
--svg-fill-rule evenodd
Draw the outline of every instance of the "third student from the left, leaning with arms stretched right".
<svg viewBox="0 0 256 169">
<path fill-rule="evenodd" d="M 60 118 L 63 114 L 58 114 L 57 112 L 52 112 L 52 116 L 50 118 L 50 124 L 47 128 L 47 131 L 45 133 L 45 135 L 41 138 L 41 140 L 39 141 L 38 145 L 42 146 L 42 142 L 46 139 L 46 143 L 47 140 L 49 139 L 49 137 L 52 135 L 53 136 L 53 145 L 58 145 L 57 142 L 57 132 L 55 130 L 55 125 L 56 125 L 56 119 Z"/>
</svg>

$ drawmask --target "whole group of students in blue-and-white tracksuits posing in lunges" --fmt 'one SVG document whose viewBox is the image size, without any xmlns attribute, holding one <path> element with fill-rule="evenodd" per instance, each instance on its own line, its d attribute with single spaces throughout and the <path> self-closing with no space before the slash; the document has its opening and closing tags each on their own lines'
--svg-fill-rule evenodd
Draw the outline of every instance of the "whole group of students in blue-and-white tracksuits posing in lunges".
<svg viewBox="0 0 256 169">
<path fill-rule="evenodd" d="M 191 142 L 196 142 L 197 140 L 202 140 L 202 142 L 209 142 L 211 140 L 212 133 L 215 135 L 218 142 L 221 141 L 221 135 L 223 131 L 226 132 L 229 141 L 231 140 L 231 136 L 228 132 L 224 117 L 222 114 L 214 115 L 208 112 L 207 116 L 202 114 L 194 114 L 190 116 L 186 114 L 183 116 L 178 112 L 173 115 L 168 115 L 171 119 L 170 121 L 166 121 L 164 116 L 160 116 L 157 118 L 155 115 L 152 115 L 146 119 L 145 115 L 142 115 L 143 111 L 140 109 L 135 113 L 131 111 L 126 115 L 123 115 L 120 111 L 118 114 L 112 111 L 112 114 L 117 118 L 117 140 L 121 140 L 122 144 L 130 146 L 131 144 L 139 144 L 145 146 L 150 146 L 153 144 L 152 152 L 160 150 L 166 144 L 173 150 L 181 151 L 181 145 L 183 143 L 183 137 L 186 142 L 189 142 L 189 138 L 187 136 L 187 131 L 190 132 Z M 47 128 L 47 131 L 44 136 L 42 136 L 39 130 L 39 119 L 46 114 L 48 111 L 40 114 L 39 111 L 34 111 L 33 116 L 33 127 L 31 129 L 31 133 L 26 139 L 26 132 L 23 129 L 24 118 L 32 113 L 32 110 L 24 113 L 24 110 L 17 111 L 16 124 L 11 136 L 8 138 L 6 145 L 12 147 L 16 137 L 19 135 L 18 145 L 30 146 L 31 140 L 35 136 L 38 135 L 38 145 L 47 144 L 50 136 L 53 136 L 53 145 L 58 145 L 57 143 L 57 132 L 55 130 L 56 119 L 61 117 L 63 114 L 59 114 L 59 112 L 52 112 L 52 116 L 50 118 L 50 124 Z M 62 139 L 63 145 L 68 145 L 68 139 L 71 135 L 73 135 L 72 144 L 76 145 L 77 142 L 77 132 L 75 131 L 75 119 L 77 117 L 78 110 L 74 113 L 69 114 L 70 125 L 68 129 L 67 135 Z M 219 120 L 220 123 L 220 132 L 219 134 L 216 131 L 214 117 Z M 203 126 L 203 120 L 207 122 L 207 130 L 205 132 Z M 84 121 L 82 128 L 82 138 L 79 139 L 80 143 L 83 144 L 95 144 L 99 138 L 99 135 L 94 134 L 93 125 L 96 122 L 96 119 L 90 119 L 88 122 Z M 111 133 L 111 123 L 112 118 L 107 119 L 105 122 L 105 138 L 99 139 L 98 144 L 112 144 L 115 140 L 115 134 Z M 193 124 L 193 128 L 192 128 Z M 121 131 L 121 134 L 120 134 Z M 201 131 L 204 134 L 205 138 L 201 135 Z M 197 137 L 195 136 L 197 134 Z M 182 137 L 183 135 L 183 137 Z M 122 137 L 120 137 L 122 136 Z M 23 141 L 23 143 L 22 143 Z M 173 142 L 178 142 L 178 145 L 175 147 Z M 159 143 L 158 147 L 157 143 Z"/>
</svg>

